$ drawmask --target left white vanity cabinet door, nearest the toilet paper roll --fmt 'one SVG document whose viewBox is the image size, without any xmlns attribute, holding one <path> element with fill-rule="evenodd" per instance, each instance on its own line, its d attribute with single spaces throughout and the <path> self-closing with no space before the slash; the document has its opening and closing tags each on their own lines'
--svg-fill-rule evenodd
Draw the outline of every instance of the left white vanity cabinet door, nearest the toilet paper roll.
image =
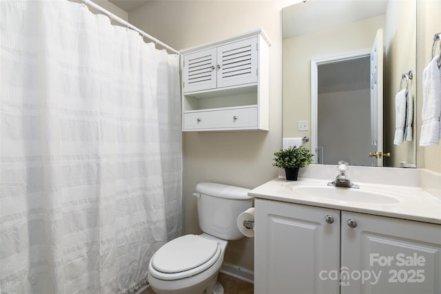
<svg viewBox="0 0 441 294">
<path fill-rule="evenodd" d="M 254 293 L 339 293 L 340 211 L 256 199 Z"/>
</svg>

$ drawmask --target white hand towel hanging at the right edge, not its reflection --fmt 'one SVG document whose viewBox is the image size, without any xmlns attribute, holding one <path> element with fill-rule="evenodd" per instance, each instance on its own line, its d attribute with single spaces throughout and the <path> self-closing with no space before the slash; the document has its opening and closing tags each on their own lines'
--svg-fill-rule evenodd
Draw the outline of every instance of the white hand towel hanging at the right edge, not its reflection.
<svg viewBox="0 0 441 294">
<path fill-rule="evenodd" d="M 422 125 L 420 146 L 438 145 L 441 137 L 441 70 L 435 56 L 422 72 Z"/>
</svg>

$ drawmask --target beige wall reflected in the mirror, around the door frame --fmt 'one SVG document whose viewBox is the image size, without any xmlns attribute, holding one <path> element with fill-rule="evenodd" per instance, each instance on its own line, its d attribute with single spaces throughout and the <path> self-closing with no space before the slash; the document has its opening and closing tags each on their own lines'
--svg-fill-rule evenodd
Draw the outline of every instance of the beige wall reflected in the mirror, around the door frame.
<svg viewBox="0 0 441 294">
<path fill-rule="evenodd" d="M 297 130 L 298 120 L 311 121 L 311 59 L 369 49 L 383 25 L 372 17 L 283 40 L 283 136 L 311 136 Z"/>
</svg>

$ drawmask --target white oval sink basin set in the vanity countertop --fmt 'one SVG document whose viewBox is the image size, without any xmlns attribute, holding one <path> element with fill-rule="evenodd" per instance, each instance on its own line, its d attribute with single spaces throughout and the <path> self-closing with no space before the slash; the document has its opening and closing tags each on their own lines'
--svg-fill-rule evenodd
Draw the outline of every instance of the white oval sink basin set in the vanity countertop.
<svg viewBox="0 0 441 294">
<path fill-rule="evenodd" d="M 314 198 L 333 199 L 345 202 L 365 202 L 378 204 L 398 203 L 400 200 L 393 197 L 392 191 L 375 189 L 372 187 L 360 187 L 360 189 L 331 187 L 326 184 L 320 185 L 287 185 L 289 189 L 304 196 Z"/>
</svg>

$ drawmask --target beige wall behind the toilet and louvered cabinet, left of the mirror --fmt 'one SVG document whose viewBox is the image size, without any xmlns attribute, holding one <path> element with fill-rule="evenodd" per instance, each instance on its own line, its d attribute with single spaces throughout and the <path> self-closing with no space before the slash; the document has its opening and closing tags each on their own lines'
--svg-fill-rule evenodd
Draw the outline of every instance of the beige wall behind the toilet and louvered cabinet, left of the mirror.
<svg viewBox="0 0 441 294">
<path fill-rule="evenodd" d="M 130 22 L 176 50 L 263 28 L 269 48 L 269 132 L 183 134 L 184 233 L 200 233 L 198 182 L 254 188 L 276 178 L 274 152 L 282 143 L 281 9 L 287 1 L 152 1 L 129 14 Z M 292 3 L 292 1 L 291 1 Z M 225 262 L 254 269 L 254 238 L 230 242 Z"/>
</svg>

